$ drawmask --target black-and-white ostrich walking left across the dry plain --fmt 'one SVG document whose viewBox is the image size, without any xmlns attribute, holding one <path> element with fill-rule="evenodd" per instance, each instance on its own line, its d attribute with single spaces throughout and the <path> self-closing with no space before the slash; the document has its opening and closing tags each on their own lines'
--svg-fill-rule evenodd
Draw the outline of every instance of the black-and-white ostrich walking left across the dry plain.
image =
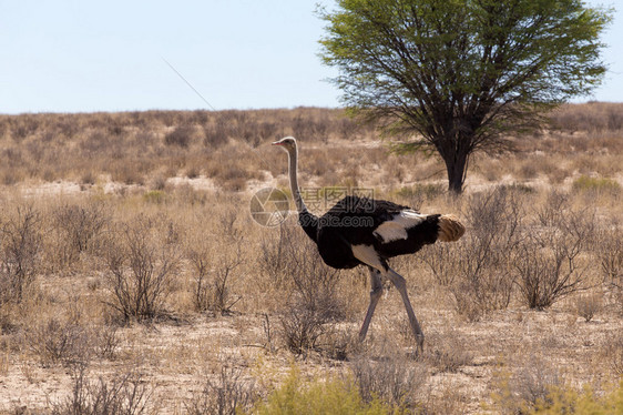
<svg viewBox="0 0 623 415">
<path fill-rule="evenodd" d="M 288 153 L 288 172 L 292 195 L 298 211 L 298 223 L 318 246 L 323 261 L 335 269 L 366 265 L 370 271 L 370 303 L 359 341 L 366 338 L 370 320 L 382 294 L 381 277 L 389 279 L 400 293 L 409 324 L 423 350 L 423 333 L 416 318 L 407 294 L 405 279 L 394 271 L 388 260 L 412 254 L 436 241 L 457 241 L 464 226 L 452 215 L 421 214 L 408 206 L 367 198 L 348 195 L 318 217 L 312 214 L 300 195 L 297 180 L 298 151 L 296 140 L 286 136 L 273 143 Z"/>
</svg>

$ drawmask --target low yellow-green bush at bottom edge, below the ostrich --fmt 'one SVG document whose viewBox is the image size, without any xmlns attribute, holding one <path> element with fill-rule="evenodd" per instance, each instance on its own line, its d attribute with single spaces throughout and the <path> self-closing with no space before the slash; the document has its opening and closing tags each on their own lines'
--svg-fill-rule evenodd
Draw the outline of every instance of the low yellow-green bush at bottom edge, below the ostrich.
<svg viewBox="0 0 623 415">
<path fill-rule="evenodd" d="M 253 414 L 257 415 L 316 415 L 316 414 L 398 414 L 394 409 L 372 399 L 366 403 L 357 385 L 348 379 L 305 382 L 296 368 L 292 368 L 285 382 L 273 391 L 266 401 L 261 402 Z"/>
</svg>

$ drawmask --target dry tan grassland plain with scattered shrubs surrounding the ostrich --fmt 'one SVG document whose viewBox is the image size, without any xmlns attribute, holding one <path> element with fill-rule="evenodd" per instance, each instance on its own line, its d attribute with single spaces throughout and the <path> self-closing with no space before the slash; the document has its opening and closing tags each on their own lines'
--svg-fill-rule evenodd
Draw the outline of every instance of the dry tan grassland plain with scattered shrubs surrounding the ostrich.
<svg viewBox="0 0 623 415">
<path fill-rule="evenodd" d="M 439 160 L 389 154 L 338 110 L 0 115 L 0 412 L 251 411 L 293 360 L 416 413 L 599 391 L 622 367 L 622 108 L 562 108 L 517 153 L 477 156 L 459 199 Z M 417 361 L 395 290 L 359 344 L 367 271 L 324 266 L 294 215 L 253 222 L 255 190 L 287 189 L 267 145 L 286 134 L 306 188 L 468 224 L 394 262 L 427 334 Z"/>
</svg>

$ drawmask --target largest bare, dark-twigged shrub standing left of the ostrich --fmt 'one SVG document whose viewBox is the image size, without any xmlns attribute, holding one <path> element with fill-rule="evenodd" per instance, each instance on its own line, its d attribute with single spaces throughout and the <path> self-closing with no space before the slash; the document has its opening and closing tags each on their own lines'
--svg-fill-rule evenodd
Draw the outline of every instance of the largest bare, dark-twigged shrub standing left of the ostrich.
<svg viewBox="0 0 623 415">
<path fill-rule="evenodd" d="M 173 224 L 139 215 L 111 230 L 103 250 L 111 298 L 106 304 L 124 321 L 153 318 L 163 312 L 180 254 Z"/>
</svg>

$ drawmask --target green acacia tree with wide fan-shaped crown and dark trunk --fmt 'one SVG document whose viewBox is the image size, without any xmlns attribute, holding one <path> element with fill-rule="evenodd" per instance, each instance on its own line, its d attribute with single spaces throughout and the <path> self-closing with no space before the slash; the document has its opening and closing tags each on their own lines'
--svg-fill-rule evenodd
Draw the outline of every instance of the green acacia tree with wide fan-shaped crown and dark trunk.
<svg viewBox="0 0 623 415">
<path fill-rule="evenodd" d="M 321 58 L 351 113 L 433 149 L 460 193 L 470 155 L 596 87 L 611 10 L 581 0 L 337 0 Z M 415 139 L 417 136 L 417 139 Z"/>
</svg>

